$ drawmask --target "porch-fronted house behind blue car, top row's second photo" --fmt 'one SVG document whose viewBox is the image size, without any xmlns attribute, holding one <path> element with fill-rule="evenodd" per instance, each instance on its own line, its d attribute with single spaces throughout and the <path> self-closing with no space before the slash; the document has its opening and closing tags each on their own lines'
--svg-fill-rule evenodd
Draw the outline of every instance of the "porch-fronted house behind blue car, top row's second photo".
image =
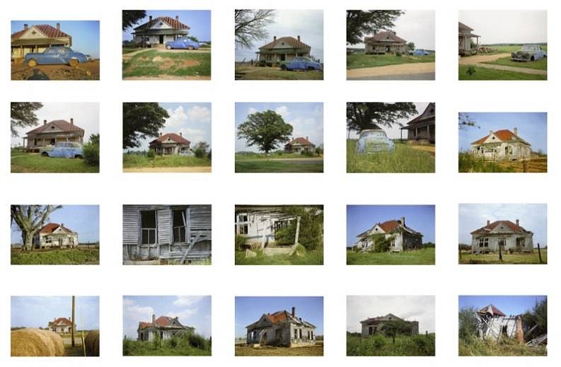
<svg viewBox="0 0 561 367">
<path fill-rule="evenodd" d="M 158 16 L 154 19 L 149 16 L 148 19 L 148 22 L 134 28 L 132 32 L 132 40 L 139 47 L 163 48 L 166 42 L 187 37 L 191 29 L 179 21 L 179 16 Z"/>
</svg>

